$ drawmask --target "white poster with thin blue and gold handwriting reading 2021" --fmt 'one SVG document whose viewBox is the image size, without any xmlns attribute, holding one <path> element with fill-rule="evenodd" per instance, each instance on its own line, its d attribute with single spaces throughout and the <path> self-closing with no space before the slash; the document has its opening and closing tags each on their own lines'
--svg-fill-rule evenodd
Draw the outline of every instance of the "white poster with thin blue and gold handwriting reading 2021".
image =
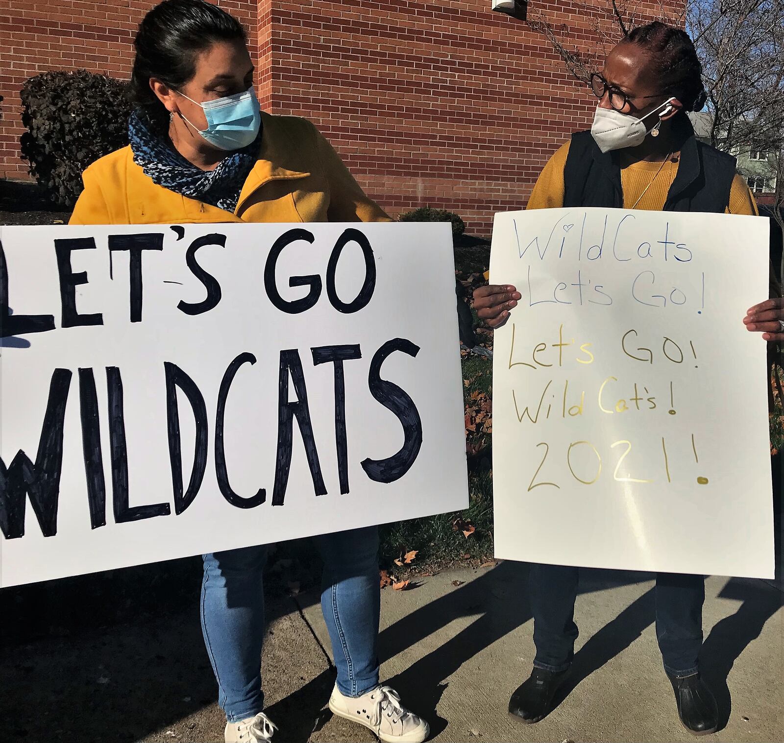
<svg viewBox="0 0 784 743">
<path fill-rule="evenodd" d="M 496 555 L 773 577 L 768 220 L 574 208 L 495 216 Z"/>
</svg>

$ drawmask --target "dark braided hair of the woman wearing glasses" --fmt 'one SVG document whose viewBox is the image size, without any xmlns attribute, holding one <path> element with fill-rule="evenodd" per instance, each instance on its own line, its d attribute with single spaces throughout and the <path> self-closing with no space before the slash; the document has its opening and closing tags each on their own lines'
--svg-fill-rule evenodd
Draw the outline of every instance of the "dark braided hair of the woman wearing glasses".
<svg viewBox="0 0 784 743">
<path fill-rule="evenodd" d="M 636 44 L 649 54 L 656 77 L 684 104 L 685 111 L 702 111 L 707 100 L 702 64 L 686 31 L 657 20 L 632 29 L 622 43 Z"/>
</svg>

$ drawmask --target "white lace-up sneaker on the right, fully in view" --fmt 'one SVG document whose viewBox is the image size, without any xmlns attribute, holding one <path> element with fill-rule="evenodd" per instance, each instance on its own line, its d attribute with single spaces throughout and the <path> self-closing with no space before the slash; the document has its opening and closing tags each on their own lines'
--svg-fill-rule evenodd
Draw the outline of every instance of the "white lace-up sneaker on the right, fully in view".
<svg viewBox="0 0 784 743">
<path fill-rule="evenodd" d="M 332 713 L 369 727 L 384 743 L 422 743 L 430 725 L 408 712 L 392 687 L 376 687 L 362 697 L 344 697 L 337 685 L 329 698 Z"/>
</svg>

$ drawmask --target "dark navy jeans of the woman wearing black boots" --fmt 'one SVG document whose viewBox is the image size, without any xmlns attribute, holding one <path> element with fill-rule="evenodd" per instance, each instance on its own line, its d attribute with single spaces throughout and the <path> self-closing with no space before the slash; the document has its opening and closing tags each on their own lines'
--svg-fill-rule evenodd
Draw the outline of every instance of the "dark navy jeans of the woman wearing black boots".
<svg viewBox="0 0 784 743">
<path fill-rule="evenodd" d="M 577 639 L 575 598 L 579 570 L 563 565 L 532 564 L 531 604 L 534 615 L 534 665 L 563 671 L 572 663 Z M 656 575 L 656 637 L 666 672 L 697 672 L 702 647 L 702 575 Z"/>
</svg>

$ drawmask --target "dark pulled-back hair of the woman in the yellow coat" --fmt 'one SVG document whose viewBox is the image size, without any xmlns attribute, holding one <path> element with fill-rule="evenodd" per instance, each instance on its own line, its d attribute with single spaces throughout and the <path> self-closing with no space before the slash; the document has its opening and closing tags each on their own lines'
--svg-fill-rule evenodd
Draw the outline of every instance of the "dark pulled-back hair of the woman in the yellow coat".
<svg viewBox="0 0 784 743">
<path fill-rule="evenodd" d="M 164 0 L 139 24 L 133 41 L 129 94 L 152 121 L 162 123 L 168 113 L 150 88 L 158 78 L 179 90 L 196 72 L 196 57 L 215 42 L 247 42 L 242 24 L 205 0 Z"/>
</svg>

